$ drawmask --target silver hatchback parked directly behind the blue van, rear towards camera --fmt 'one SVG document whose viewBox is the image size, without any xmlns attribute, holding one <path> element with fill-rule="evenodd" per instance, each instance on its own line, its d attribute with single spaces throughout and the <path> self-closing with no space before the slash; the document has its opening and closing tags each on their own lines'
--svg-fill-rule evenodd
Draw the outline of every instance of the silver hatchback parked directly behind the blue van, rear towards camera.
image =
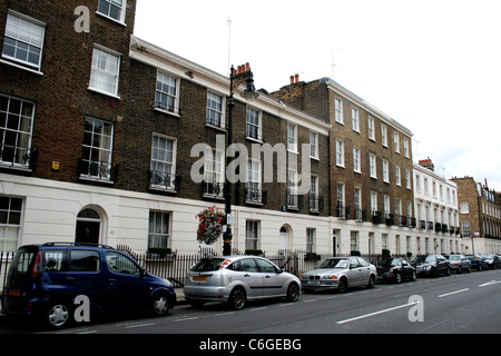
<svg viewBox="0 0 501 356">
<path fill-rule="evenodd" d="M 227 303 L 242 309 L 247 300 L 285 297 L 296 301 L 301 280 L 272 261 L 257 256 L 208 257 L 188 271 L 184 293 L 188 303 L 199 307 L 206 301 Z"/>
</svg>

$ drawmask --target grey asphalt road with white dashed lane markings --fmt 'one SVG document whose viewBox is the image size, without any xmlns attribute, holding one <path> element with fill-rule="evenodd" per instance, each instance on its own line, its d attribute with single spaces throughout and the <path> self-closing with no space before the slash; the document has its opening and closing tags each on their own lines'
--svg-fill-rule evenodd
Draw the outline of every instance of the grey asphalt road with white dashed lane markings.
<svg viewBox="0 0 501 356">
<path fill-rule="evenodd" d="M 500 334 L 500 312 L 501 270 L 489 270 L 302 294 L 296 303 L 261 301 L 238 312 L 218 304 L 178 306 L 163 318 L 105 320 L 52 334 Z M 0 333 L 9 327 L 16 326 Z"/>
</svg>

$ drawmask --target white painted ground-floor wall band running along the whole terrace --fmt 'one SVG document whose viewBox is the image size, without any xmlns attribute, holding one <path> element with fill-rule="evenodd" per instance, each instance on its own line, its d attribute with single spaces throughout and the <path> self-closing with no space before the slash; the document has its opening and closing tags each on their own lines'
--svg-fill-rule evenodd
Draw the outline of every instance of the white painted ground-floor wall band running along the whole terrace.
<svg viewBox="0 0 501 356">
<path fill-rule="evenodd" d="M 28 244 L 76 240 L 137 253 L 169 247 L 178 254 L 199 250 L 196 215 L 210 201 L 139 194 L 0 174 L 0 251 Z M 224 201 L 216 205 L 224 210 Z M 374 225 L 335 217 L 234 207 L 233 248 L 310 250 L 334 254 L 501 254 L 501 241 L 460 238 L 416 228 Z M 219 239 L 214 248 L 223 250 Z"/>
</svg>

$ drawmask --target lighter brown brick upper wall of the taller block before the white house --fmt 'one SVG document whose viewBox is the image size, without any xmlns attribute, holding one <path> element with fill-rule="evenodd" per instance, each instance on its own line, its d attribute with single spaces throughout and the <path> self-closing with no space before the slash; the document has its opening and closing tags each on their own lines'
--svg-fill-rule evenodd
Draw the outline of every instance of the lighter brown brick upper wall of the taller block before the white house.
<svg viewBox="0 0 501 356">
<path fill-rule="evenodd" d="M 412 134 L 396 121 L 366 106 L 365 101 L 354 96 L 332 80 L 321 79 L 312 82 L 294 82 L 274 92 L 273 96 L 301 109 L 328 120 L 332 123 L 330 136 L 331 159 L 331 214 L 355 218 L 354 191 L 362 191 L 362 220 L 371 220 L 371 192 L 377 195 L 376 211 L 384 211 L 384 196 L 390 197 L 387 215 L 395 215 L 397 200 L 402 204 L 401 215 L 413 217 L 412 194 Z M 335 100 L 342 102 L 342 119 L 336 118 Z M 352 109 L 357 110 L 358 128 L 352 126 Z M 369 138 L 369 118 L 374 119 L 373 138 Z M 387 145 L 382 145 L 382 127 L 386 127 Z M 394 134 L 399 134 L 400 150 L 394 146 Z M 406 149 L 404 152 L 404 140 Z M 343 162 L 336 161 L 336 141 L 344 148 Z M 354 169 L 353 149 L 360 149 L 360 170 Z M 370 170 L 370 155 L 376 158 L 376 178 Z M 383 160 L 389 165 L 387 181 L 383 179 Z M 400 184 L 396 184 L 395 169 L 400 167 Z M 409 186 L 406 185 L 409 174 Z M 337 205 L 337 187 L 344 186 L 344 207 Z M 410 206 L 410 210 L 407 207 Z M 360 216 L 358 216 L 360 217 Z M 395 217 L 396 219 L 396 217 Z M 383 219 L 384 221 L 384 219 Z M 397 225 L 397 222 L 395 221 Z"/>
</svg>

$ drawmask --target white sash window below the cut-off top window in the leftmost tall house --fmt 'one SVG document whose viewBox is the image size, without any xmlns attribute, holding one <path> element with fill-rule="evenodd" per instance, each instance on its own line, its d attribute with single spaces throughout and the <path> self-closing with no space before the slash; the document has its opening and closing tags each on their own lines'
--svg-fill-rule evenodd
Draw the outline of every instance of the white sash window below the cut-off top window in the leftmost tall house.
<svg viewBox="0 0 501 356">
<path fill-rule="evenodd" d="M 105 63 L 102 63 L 102 61 L 105 61 Z M 118 83 L 120 78 L 120 53 L 102 46 L 94 44 L 88 89 L 119 99 Z M 105 65 L 105 68 L 102 68 L 102 65 Z M 116 71 L 111 70 L 114 67 L 116 68 Z M 104 81 L 102 78 L 106 80 Z M 112 80 L 109 80 L 110 78 L 112 78 Z M 102 88 L 102 85 L 105 85 L 106 88 Z M 108 90 L 109 86 L 112 87 L 112 90 Z"/>
</svg>

